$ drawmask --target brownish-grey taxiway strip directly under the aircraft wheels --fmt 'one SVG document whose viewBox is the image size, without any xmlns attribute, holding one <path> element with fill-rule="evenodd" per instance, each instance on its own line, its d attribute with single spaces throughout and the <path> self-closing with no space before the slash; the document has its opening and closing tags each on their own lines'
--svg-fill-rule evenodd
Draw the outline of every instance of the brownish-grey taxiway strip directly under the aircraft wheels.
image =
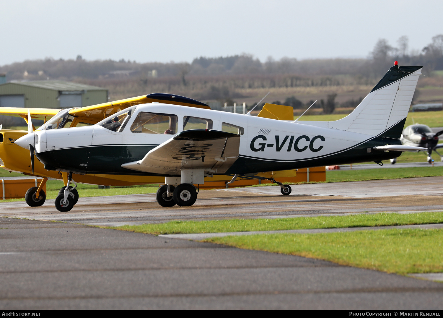
<svg viewBox="0 0 443 318">
<path fill-rule="evenodd" d="M 0 216 L 90 225 L 213 220 L 232 217 L 288 217 L 356 212 L 443 211 L 443 177 L 202 190 L 192 207 L 162 208 L 154 194 L 80 198 L 70 212 L 54 200 L 31 208 L 25 202 L 0 204 Z"/>
</svg>

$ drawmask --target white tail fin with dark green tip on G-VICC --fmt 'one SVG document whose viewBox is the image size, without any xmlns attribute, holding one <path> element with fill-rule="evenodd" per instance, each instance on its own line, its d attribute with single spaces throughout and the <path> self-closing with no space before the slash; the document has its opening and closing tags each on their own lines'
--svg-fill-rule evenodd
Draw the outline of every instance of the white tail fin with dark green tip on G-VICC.
<svg viewBox="0 0 443 318">
<path fill-rule="evenodd" d="M 421 69 L 421 66 L 394 65 L 345 118 L 333 122 L 303 123 L 371 136 L 400 138 Z"/>
</svg>

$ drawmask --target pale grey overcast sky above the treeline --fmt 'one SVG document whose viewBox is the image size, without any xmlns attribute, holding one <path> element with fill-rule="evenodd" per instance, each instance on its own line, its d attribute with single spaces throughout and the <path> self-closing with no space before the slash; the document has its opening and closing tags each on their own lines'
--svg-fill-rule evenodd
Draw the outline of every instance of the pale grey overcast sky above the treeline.
<svg viewBox="0 0 443 318">
<path fill-rule="evenodd" d="M 191 62 L 252 54 L 366 57 L 380 38 L 422 49 L 443 1 L 0 0 L 0 65 L 25 59 Z"/>
</svg>

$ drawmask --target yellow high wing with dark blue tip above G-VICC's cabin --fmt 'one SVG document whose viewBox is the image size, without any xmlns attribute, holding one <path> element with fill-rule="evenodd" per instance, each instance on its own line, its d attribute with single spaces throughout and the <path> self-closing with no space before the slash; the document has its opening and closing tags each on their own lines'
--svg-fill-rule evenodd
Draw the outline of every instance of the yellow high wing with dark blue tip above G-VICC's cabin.
<svg viewBox="0 0 443 318">
<path fill-rule="evenodd" d="M 69 114 L 74 117 L 84 118 L 88 122 L 100 122 L 106 117 L 115 114 L 120 110 L 124 110 L 125 108 L 152 102 L 210 109 L 208 105 L 191 98 L 179 95 L 154 93 L 132 98 L 120 99 L 114 102 L 75 108 L 73 110 L 70 110 Z"/>
</svg>

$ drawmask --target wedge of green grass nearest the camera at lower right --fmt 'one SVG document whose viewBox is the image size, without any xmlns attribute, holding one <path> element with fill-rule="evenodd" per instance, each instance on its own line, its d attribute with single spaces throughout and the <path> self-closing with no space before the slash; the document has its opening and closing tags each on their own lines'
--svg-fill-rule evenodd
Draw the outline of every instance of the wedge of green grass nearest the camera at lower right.
<svg viewBox="0 0 443 318">
<path fill-rule="evenodd" d="M 226 236 L 204 242 L 324 259 L 402 275 L 443 271 L 442 229 Z"/>
</svg>

